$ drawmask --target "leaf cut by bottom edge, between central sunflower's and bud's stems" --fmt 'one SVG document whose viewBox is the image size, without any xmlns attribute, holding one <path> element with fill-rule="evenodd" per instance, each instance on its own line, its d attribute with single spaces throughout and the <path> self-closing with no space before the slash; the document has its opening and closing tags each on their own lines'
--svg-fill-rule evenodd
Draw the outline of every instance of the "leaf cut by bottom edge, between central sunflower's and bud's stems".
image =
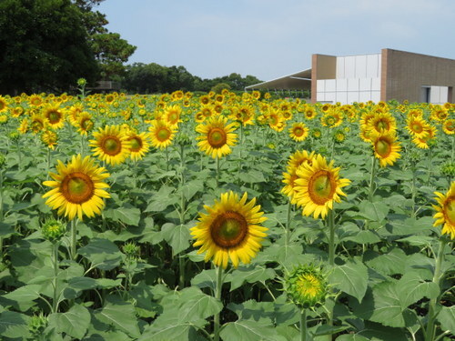
<svg viewBox="0 0 455 341">
<path fill-rule="evenodd" d="M 254 320 L 228 322 L 221 328 L 220 336 L 223 341 L 286 341 L 271 324 Z"/>
</svg>

